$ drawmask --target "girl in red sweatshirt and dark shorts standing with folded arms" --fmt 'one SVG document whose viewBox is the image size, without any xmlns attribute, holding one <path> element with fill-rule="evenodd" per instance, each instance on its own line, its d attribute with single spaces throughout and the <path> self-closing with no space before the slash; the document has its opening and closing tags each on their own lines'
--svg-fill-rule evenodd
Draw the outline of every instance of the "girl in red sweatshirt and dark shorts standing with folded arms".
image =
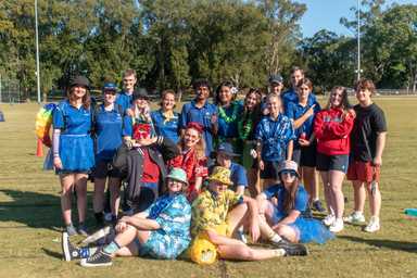
<svg viewBox="0 0 417 278">
<path fill-rule="evenodd" d="M 327 108 L 317 113 L 314 134 L 317 138 L 317 169 L 325 187 L 328 216 L 324 219 L 332 232 L 343 229 L 343 178 L 348 172 L 350 134 L 355 113 L 343 87 L 331 90 Z"/>
</svg>

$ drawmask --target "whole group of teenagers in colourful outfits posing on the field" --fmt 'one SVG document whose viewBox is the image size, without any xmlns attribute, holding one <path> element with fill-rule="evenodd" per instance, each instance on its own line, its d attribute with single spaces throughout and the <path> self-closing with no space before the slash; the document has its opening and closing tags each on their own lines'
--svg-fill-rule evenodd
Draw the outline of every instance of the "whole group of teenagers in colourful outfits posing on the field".
<svg viewBox="0 0 417 278">
<path fill-rule="evenodd" d="M 106 83 L 103 103 L 92 104 L 88 79 L 77 76 L 53 112 L 65 261 L 105 266 L 114 256 L 181 255 L 200 263 L 205 254 L 199 239 L 227 260 L 306 255 L 304 243 L 325 243 L 344 223 L 365 222 L 367 192 L 371 217 L 365 231 L 380 229 L 387 124 L 371 99 L 371 80 L 355 85 L 358 104 L 352 106 L 346 89 L 338 86 L 321 109 L 300 67 L 291 71 L 289 90 L 283 91 L 280 75 L 273 75 L 266 90 L 250 88 L 243 100 L 231 81 L 224 81 L 210 103 L 211 85 L 198 79 L 194 99 L 181 113 L 175 111 L 173 90 L 164 90 L 161 108 L 151 111 L 147 91 L 136 90 L 136 81 L 135 71 L 125 71 L 123 89 Z M 323 220 L 311 211 L 326 211 L 317 173 L 327 204 Z M 354 188 L 354 212 L 343 218 L 345 175 Z M 97 224 L 109 223 L 115 232 L 93 245 L 75 247 L 71 236 L 88 236 L 89 176 Z M 71 216 L 73 192 L 77 227 Z M 250 247 L 248 237 L 269 244 Z"/>
</svg>

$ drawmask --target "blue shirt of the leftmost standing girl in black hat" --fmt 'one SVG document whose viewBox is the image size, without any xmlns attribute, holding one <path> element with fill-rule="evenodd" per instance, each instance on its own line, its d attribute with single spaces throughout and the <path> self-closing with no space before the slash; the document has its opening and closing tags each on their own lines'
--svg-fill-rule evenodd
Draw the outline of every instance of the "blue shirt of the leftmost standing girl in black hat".
<svg viewBox="0 0 417 278">
<path fill-rule="evenodd" d="M 53 112 L 53 128 L 62 129 L 61 135 L 87 135 L 91 130 L 91 112 L 83 105 L 79 109 L 64 100 Z"/>
</svg>

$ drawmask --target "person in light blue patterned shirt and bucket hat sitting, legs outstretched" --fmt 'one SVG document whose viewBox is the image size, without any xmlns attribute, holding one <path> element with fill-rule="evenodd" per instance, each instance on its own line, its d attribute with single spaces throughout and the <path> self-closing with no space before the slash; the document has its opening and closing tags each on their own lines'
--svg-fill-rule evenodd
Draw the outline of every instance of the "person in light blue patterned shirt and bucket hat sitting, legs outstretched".
<svg viewBox="0 0 417 278">
<path fill-rule="evenodd" d="M 65 261 L 81 258 L 81 266 L 110 266 L 115 256 L 150 256 L 175 260 L 189 245 L 191 206 L 185 192 L 187 174 L 173 168 L 166 177 L 165 194 L 147 211 L 124 216 L 116 225 L 115 239 L 99 248 L 76 248 L 62 233 Z"/>
</svg>

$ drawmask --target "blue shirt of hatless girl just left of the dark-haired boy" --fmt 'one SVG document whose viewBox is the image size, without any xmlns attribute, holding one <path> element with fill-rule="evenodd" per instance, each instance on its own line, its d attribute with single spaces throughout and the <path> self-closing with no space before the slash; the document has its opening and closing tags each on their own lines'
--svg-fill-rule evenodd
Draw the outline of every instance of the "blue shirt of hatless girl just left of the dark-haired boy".
<svg viewBox="0 0 417 278">
<path fill-rule="evenodd" d="M 162 114 L 162 110 L 151 112 L 152 123 L 155 127 L 157 136 L 169 138 L 175 143 L 179 141 L 178 136 L 178 121 L 179 114 L 174 112 L 174 117 L 169 122 L 164 123 L 165 117 Z"/>
</svg>

